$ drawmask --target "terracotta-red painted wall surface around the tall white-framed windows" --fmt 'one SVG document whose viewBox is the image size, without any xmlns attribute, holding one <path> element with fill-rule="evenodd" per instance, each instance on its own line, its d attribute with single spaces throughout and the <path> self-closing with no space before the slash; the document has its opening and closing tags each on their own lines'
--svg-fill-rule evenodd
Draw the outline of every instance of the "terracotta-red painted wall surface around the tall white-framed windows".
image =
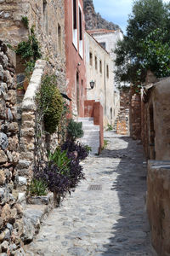
<svg viewBox="0 0 170 256">
<path fill-rule="evenodd" d="M 84 116 L 84 100 L 86 100 L 86 68 L 84 55 L 84 31 L 85 20 L 83 15 L 82 0 L 77 0 L 77 40 L 79 38 L 79 15 L 78 6 L 82 8 L 82 52 L 83 57 L 79 54 L 79 44 L 77 49 L 73 44 L 73 18 L 72 18 L 72 0 L 65 0 L 65 54 L 66 54 L 66 81 L 67 95 L 71 98 L 71 111 L 77 114 L 77 94 L 79 96 L 79 113 L 78 116 Z M 79 76 L 79 91 L 77 91 L 77 73 Z M 83 81 L 83 82 L 82 82 Z"/>
</svg>

